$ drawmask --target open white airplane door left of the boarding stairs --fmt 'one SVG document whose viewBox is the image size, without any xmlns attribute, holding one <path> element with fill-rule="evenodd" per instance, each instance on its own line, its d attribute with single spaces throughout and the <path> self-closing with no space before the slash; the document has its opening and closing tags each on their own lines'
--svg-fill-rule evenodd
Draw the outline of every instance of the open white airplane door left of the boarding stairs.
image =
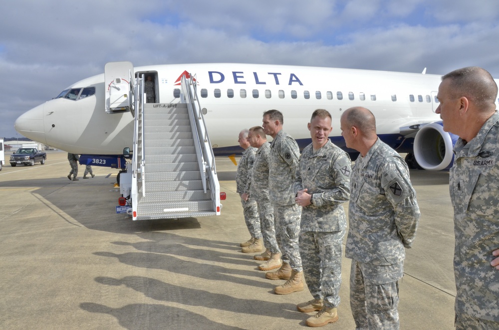
<svg viewBox="0 0 499 330">
<path fill-rule="evenodd" d="M 132 109 L 131 88 L 133 82 L 131 62 L 109 62 L 104 67 L 104 87 L 106 89 L 106 112 L 115 113 Z"/>
</svg>

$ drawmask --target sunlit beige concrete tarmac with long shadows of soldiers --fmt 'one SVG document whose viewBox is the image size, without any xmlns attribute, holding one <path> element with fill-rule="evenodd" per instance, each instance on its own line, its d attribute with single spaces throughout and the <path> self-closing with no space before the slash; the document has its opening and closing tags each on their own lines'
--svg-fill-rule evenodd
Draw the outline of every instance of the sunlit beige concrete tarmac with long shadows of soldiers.
<svg viewBox="0 0 499 330">
<path fill-rule="evenodd" d="M 8 156 L 5 155 L 8 161 Z M 45 165 L 0 171 L 0 329 L 304 329 L 296 311 L 304 291 L 272 293 L 253 254 L 236 166 L 217 159 L 222 215 L 132 221 L 116 214 L 116 169 L 67 178 L 67 154 Z M 453 211 L 449 174 L 411 171 L 421 208 L 400 283 L 401 329 L 454 329 Z M 348 205 L 345 205 L 348 209 Z M 346 236 L 345 236 L 346 238 Z M 355 329 L 349 305 L 350 259 L 342 260 L 339 321 Z"/>
</svg>

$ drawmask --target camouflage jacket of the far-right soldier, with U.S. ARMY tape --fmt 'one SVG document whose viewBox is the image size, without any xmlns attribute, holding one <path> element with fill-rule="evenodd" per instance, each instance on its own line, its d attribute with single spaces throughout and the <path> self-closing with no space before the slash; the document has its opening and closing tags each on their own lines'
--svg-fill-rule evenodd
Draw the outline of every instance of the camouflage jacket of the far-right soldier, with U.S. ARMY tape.
<svg viewBox="0 0 499 330">
<path fill-rule="evenodd" d="M 456 313 L 499 321 L 499 113 L 468 144 L 458 139 L 450 170 L 454 206 Z"/>
</svg>

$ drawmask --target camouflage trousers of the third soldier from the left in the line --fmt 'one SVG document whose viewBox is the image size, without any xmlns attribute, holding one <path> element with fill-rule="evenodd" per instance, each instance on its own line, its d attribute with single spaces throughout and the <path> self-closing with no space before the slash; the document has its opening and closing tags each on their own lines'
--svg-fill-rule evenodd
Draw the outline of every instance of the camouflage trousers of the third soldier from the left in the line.
<svg viewBox="0 0 499 330">
<path fill-rule="evenodd" d="M 281 250 L 282 262 L 301 272 L 301 257 L 298 246 L 300 235 L 301 206 L 296 204 L 274 205 L 275 238 Z"/>
</svg>

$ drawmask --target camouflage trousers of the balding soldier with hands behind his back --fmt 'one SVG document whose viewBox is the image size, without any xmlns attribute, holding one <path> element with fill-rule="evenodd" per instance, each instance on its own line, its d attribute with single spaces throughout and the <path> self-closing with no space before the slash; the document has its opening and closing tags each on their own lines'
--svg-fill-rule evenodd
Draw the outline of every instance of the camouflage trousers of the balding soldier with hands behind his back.
<svg viewBox="0 0 499 330">
<path fill-rule="evenodd" d="M 404 261 L 378 266 L 352 259 L 350 307 L 359 330 L 399 329 L 399 281 Z"/>
</svg>

